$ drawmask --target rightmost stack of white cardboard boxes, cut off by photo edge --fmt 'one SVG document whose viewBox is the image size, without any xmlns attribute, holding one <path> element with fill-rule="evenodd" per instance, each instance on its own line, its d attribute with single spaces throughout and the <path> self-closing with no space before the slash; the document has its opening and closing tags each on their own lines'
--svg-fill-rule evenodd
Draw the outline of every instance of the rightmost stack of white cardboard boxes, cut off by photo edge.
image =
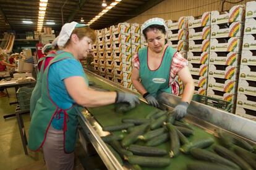
<svg viewBox="0 0 256 170">
<path fill-rule="evenodd" d="M 256 120 L 256 1 L 247 2 L 236 114 Z"/>
</svg>

